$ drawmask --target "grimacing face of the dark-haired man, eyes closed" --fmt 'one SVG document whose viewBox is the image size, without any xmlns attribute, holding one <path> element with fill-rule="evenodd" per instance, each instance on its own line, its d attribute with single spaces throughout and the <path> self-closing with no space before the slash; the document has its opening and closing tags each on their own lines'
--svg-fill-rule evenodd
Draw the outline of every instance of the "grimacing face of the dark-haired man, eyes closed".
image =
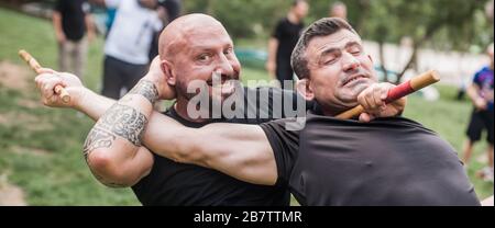
<svg viewBox="0 0 495 228">
<path fill-rule="evenodd" d="M 377 82 L 371 57 L 359 35 L 340 30 L 315 37 L 306 49 L 309 88 L 322 109 L 343 111 L 358 104 L 358 95 Z"/>
</svg>

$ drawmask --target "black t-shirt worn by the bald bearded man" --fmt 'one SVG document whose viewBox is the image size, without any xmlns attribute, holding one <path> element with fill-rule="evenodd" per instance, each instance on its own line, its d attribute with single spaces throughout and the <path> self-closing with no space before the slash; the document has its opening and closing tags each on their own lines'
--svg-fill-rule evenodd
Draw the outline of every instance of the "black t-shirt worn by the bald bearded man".
<svg viewBox="0 0 495 228">
<path fill-rule="evenodd" d="M 267 93 L 271 100 L 256 102 L 248 94 Z M 244 117 L 231 119 L 212 119 L 213 122 L 261 124 L 274 119 L 275 115 L 265 118 L 264 112 L 272 112 L 277 96 L 287 98 L 288 102 L 296 102 L 300 96 L 292 91 L 279 89 L 245 89 Z M 254 112 L 257 118 L 245 118 Z M 270 113 L 268 113 L 270 114 Z M 209 123 L 191 123 L 180 117 L 174 109 L 166 115 L 188 127 L 198 128 Z M 283 116 L 282 116 L 283 117 Z M 176 163 L 164 157 L 154 155 L 151 173 L 143 178 L 133 191 L 143 205 L 195 205 L 195 206 L 286 206 L 289 205 L 289 193 L 286 186 L 254 185 L 239 181 L 216 170 L 198 166 Z"/>
</svg>

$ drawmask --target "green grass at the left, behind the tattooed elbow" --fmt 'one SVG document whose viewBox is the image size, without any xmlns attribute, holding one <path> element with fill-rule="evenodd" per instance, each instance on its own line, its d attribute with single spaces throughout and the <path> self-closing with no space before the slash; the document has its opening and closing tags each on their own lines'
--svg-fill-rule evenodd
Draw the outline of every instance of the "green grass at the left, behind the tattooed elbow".
<svg viewBox="0 0 495 228">
<path fill-rule="evenodd" d="M 56 68 L 50 21 L 0 9 L 0 61 L 24 66 L 16 54 L 24 48 L 43 66 Z M 101 79 L 102 44 L 95 42 L 88 53 L 84 80 L 92 89 Z M 130 189 L 108 189 L 88 171 L 81 147 L 92 126 L 89 118 L 69 110 L 26 107 L 22 100 L 37 100 L 34 83 L 25 91 L 0 84 L 0 115 L 12 118 L 0 124 L 0 174 L 7 173 L 9 182 L 24 191 L 30 205 L 140 205 Z"/>
</svg>

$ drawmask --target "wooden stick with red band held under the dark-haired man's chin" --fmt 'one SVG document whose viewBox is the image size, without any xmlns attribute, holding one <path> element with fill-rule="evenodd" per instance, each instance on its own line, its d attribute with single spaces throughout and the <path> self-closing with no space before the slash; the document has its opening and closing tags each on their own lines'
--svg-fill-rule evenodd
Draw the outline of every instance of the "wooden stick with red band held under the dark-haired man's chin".
<svg viewBox="0 0 495 228">
<path fill-rule="evenodd" d="M 388 95 L 385 99 L 385 103 L 387 103 L 387 104 L 392 103 L 395 100 L 398 100 L 403 96 L 414 93 L 414 92 L 416 92 L 425 87 L 428 87 L 430 84 L 437 83 L 438 81 L 440 81 L 440 75 L 436 70 L 430 70 L 428 72 L 419 75 L 419 76 L 411 78 L 410 80 L 395 87 L 391 91 L 388 91 Z M 358 105 L 358 106 L 353 107 L 352 110 L 348 110 L 348 111 L 339 114 L 336 117 L 340 118 L 340 119 L 349 119 L 349 118 L 360 115 L 363 112 L 364 112 L 364 107 L 361 105 Z"/>
</svg>

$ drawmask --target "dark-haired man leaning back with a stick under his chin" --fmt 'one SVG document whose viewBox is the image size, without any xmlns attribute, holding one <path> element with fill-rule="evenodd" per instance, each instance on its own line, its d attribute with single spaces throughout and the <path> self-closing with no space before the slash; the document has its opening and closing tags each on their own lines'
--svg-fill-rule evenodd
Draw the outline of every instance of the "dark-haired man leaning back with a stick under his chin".
<svg viewBox="0 0 495 228">
<path fill-rule="evenodd" d="M 292 60 L 301 79 L 298 92 L 316 101 L 302 128 L 292 130 L 293 119 L 279 119 L 190 129 L 166 116 L 152 116 L 147 126 L 153 129 L 145 130 L 144 144 L 178 162 L 212 168 L 253 184 L 288 187 L 301 205 L 480 205 L 447 141 L 414 121 L 385 117 L 400 113 L 405 100 L 384 103 L 395 86 L 377 83 L 361 37 L 344 20 L 315 22 Z M 155 89 L 143 89 L 141 96 L 153 90 L 163 96 L 168 89 L 161 78 L 161 73 L 148 75 Z M 148 115 L 153 101 L 124 104 Z M 356 104 L 367 112 L 360 115 L 361 122 L 333 117 Z M 371 117 L 382 118 L 362 123 Z M 133 129 L 124 119 L 114 126 L 122 124 Z M 122 138 L 128 145 L 132 140 Z M 111 147 L 123 147 L 124 141 L 114 140 Z M 101 151 L 112 150 L 94 150 Z"/>
</svg>

